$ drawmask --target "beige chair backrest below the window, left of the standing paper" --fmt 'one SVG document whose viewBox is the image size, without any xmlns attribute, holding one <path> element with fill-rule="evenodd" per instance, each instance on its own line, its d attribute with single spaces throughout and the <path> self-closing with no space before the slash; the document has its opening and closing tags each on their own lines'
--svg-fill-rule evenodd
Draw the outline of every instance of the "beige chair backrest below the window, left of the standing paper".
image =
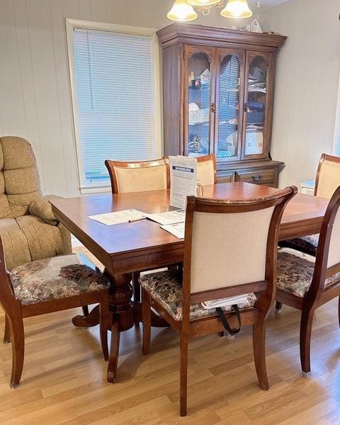
<svg viewBox="0 0 340 425">
<path fill-rule="evenodd" d="M 105 162 L 113 193 L 160 191 L 169 188 L 169 166 L 165 159 Z"/>
</svg>

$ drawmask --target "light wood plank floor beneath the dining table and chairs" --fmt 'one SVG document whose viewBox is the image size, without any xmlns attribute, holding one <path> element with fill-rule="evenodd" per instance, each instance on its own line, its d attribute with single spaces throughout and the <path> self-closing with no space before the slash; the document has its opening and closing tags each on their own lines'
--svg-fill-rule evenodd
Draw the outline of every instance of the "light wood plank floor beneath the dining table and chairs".
<svg viewBox="0 0 340 425">
<path fill-rule="evenodd" d="M 0 424 L 340 424 L 335 301 L 315 316 L 310 380 L 300 375 L 299 312 L 283 307 L 282 314 L 271 314 L 268 392 L 257 386 L 250 328 L 234 341 L 215 334 L 191 341 L 186 418 L 179 417 L 179 339 L 174 331 L 153 329 L 147 357 L 141 355 L 141 329 L 125 332 L 119 382 L 108 385 L 98 327 L 75 329 L 71 319 L 78 312 L 26 319 L 25 365 L 16 390 L 8 386 L 11 346 L 0 344 Z"/>
</svg>

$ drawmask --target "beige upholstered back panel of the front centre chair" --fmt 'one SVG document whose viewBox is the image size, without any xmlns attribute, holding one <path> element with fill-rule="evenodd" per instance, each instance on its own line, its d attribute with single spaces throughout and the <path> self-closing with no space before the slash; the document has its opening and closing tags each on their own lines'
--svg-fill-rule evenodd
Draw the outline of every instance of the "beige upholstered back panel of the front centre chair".
<svg viewBox="0 0 340 425">
<path fill-rule="evenodd" d="M 273 210 L 193 213 L 191 293 L 264 280 Z"/>
</svg>

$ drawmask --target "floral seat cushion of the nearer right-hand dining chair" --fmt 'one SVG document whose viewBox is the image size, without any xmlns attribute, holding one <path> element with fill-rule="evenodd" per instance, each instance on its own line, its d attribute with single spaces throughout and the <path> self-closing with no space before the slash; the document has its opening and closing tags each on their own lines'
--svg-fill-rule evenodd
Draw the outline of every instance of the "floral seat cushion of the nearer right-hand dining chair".
<svg viewBox="0 0 340 425">
<path fill-rule="evenodd" d="M 294 249 L 280 249 L 278 252 L 278 290 L 303 298 L 310 288 L 314 274 L 312 256 L 302 254 Z M 324 288 L 336 283 L 340 273 L 327 278 Z"/>
</svg>

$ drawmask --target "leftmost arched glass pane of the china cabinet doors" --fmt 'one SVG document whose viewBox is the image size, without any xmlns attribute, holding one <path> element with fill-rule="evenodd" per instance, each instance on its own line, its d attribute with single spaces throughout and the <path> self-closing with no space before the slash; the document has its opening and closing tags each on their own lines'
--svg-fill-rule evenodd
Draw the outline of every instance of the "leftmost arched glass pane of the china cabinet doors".
<svg viewBox="0 0 340 425">
<path fill-rule="evenodd" d="M 209 48 L 198 50 L 195 46 L 188 47 L 185 128 L 188 144 L 186 153 L 191 157 L 210 153 L 212 56 L 213 50 Z"/>
</svg>

